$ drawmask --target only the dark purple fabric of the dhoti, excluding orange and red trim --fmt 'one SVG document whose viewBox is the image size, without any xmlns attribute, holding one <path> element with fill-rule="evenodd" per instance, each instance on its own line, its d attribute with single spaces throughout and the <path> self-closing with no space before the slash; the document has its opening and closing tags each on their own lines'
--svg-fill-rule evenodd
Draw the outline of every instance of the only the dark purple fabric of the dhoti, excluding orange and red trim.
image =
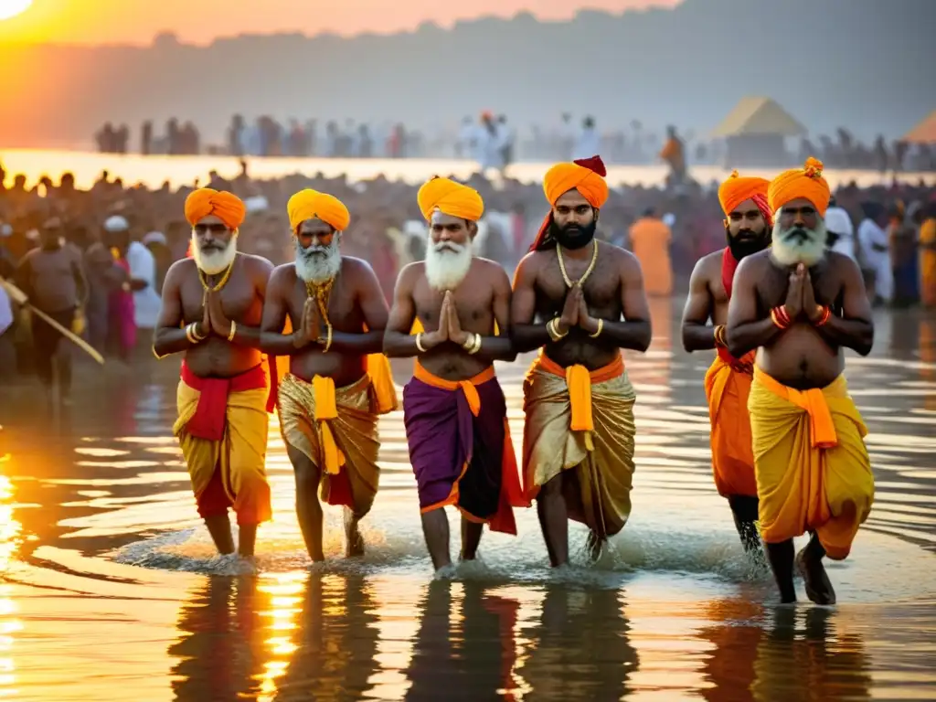
<svg viewBox="0 0 936 702">
<path fill-rule="evenodd" d="M 477 417 L 461 388 L 436 388 L 417 378 L 403 388 L 403 423 L 420 509 L 446 503 L 458 483 L 458 498 L 449 504 L 476 519 L 498 512 L 506 402 L 497 378 L 475 388 L 481 400 Z"/>
</svg>

